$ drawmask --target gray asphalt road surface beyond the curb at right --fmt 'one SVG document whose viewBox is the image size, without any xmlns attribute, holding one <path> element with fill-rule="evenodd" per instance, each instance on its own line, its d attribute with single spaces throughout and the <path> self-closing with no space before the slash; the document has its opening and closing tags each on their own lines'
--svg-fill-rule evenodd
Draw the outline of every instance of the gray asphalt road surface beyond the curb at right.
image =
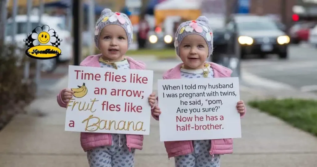
<svg viewBox="0 0 317 167">
<path fill-rule="evenodd" d="M 244 60 L 242 70 L 247 73 L 246 81 L 251 85 L 317 91 L 316 52 L 317 49 L 313 47 L 291 45 L 288 60 L 279 60 L 275 55 L 269 59 Z M 245 77 L 243 72 L 242 77 Z M 263 83 L 265 80 L 256 80 L 253 76 L 249 77 L 249 74 L 274 83 Z"/>
</svg>

